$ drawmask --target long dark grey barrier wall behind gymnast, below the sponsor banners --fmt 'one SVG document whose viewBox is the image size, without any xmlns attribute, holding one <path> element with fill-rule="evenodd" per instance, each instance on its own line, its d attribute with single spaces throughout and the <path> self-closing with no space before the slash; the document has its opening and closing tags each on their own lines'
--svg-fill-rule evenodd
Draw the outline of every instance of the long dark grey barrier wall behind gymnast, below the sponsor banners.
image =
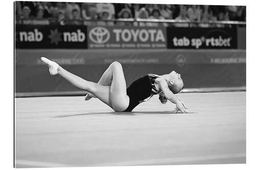
<svg viewBox="0 0 256 170">
<path fill-rule="evenodd" d="M 16 92 L 76 91 L 60 76 L 52 77 L 40 57 L 56 61 L 83 79 L 98 82 L 113 61 L 122 64 L 127 87 L 146 74 L 181 74 L 185 88 L 244 87 L 245 50 L 24 50 L 15 53 Z M 51 82 L 51 83 L 49 83 Z"/>
</svg>

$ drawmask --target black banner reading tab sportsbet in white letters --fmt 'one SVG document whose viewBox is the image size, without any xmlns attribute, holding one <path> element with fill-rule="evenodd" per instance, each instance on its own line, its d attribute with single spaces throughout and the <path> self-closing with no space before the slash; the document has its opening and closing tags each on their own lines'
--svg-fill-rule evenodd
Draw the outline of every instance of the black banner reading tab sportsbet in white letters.
<svg viewBox="0 0 256 170">
<path fill-rule="evenodd" d="M 168 48 L 236 49 L 236 28 L 167 28 Z"/>
</svg>

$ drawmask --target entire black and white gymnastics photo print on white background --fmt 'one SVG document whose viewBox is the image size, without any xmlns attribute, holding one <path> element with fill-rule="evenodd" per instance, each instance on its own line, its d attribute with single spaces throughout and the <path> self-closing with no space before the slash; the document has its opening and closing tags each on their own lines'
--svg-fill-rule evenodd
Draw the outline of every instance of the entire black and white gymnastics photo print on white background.
<svg viewBox="0 0 256 170">
<path fill-rule="evenodd" d="M 172 3 L 13 2 L 15 168 L 246 164 L 247 6 Z"/>
</svg>

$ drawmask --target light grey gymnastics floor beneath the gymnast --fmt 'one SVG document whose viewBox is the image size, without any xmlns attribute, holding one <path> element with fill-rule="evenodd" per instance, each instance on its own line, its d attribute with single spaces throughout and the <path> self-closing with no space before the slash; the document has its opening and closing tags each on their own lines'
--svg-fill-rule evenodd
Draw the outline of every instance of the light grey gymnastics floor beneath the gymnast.
<svg viewBox="0 0 256 170">
<path fill-rule="evenodd" d="M 115 113 L 82 96 L 16 98 L 16 167 L 245 163 L 246 93 L 182 93 L 189 114 L 157 96 Z"/>
</svg>

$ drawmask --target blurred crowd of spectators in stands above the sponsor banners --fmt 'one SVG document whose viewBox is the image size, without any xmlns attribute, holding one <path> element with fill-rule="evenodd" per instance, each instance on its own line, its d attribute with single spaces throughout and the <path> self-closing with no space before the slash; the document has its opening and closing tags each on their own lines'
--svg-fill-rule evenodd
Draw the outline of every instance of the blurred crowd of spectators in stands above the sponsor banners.
<svg viewBox="0 0 256 170">
<path fill-rule="evenodd" d="M 202 22 L 201 27 L 208 27 L 209 21 L 245 21 L 246 8 L 208 5 L 15 2 L 15 17 L 17 23 L 23 24 L 167 26 L 167 23 L 158 22 L 118 21 L 151 18 L 198 21 Z M 177 27 L 187 26 L 187 23 L 175 24 Z"/>
</svg>

